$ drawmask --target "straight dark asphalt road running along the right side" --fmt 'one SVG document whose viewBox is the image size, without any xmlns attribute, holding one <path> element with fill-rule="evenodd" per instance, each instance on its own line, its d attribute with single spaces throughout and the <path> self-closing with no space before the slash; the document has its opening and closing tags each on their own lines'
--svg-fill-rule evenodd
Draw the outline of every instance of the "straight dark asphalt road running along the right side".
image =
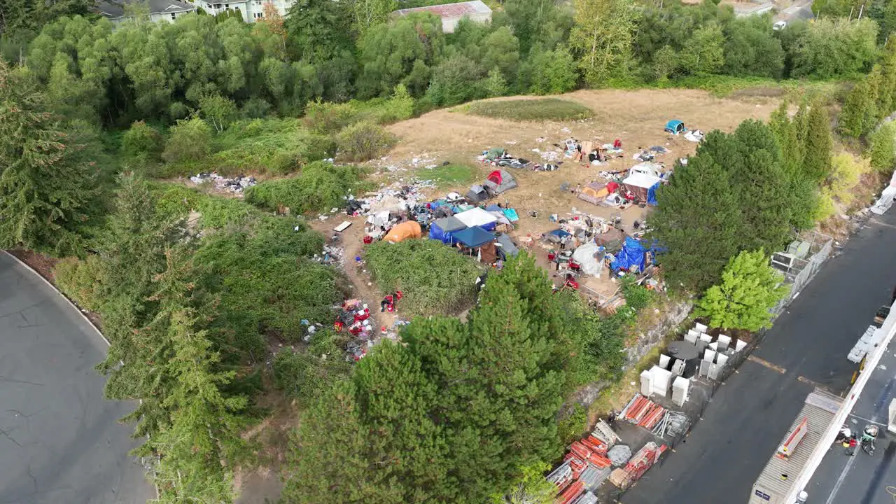
<svg viewBox="0 0 896 504">
<path fill-rule="evenodd" d="M 625 493 L 625 504 L 746 502 L 815 386 L 849 387 L 849 349 L 896 283 L 896 212 L 875 217 L 829 259 L 754 356 L 712 398 L 685 443 Z M 771 364 L 771 367 L 766 365 Z M 883 454 L 883 447 L 879 447 Z M 896 484 L 896 482 L 894 482 Z M 857 502 L 854 500 L 853 502 Z"/>
</svg>

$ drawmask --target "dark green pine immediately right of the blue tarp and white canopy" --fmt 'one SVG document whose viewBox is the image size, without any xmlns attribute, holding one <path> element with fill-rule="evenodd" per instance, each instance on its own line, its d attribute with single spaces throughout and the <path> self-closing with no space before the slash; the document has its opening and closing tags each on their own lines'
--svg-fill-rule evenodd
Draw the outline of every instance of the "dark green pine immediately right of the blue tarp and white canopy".
<svg viewBox="0 0 896 504">
<path fill-rule="evenodd" d="M 745 235 L 735 189 L 724 163 L 736 155 L 727 135 L 713 131 L 686 165 L 657 191 L 651 238 L 668 251 L 657 257 L 669 282 L 703 291 L 721 276 Z"/>
</svg>

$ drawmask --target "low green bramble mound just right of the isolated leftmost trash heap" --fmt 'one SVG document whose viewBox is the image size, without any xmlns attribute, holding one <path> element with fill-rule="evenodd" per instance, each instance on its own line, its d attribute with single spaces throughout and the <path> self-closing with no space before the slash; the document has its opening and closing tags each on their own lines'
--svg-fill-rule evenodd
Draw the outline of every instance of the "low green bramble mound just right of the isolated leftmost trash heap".
<svg viewBox="0 0 896 504">
<path fill-rule="evenodd" d="M 345 205 L 345 196 L 358 187 L 361 170 L 314 161 L 294 178 L 268 180 L 246 189 L 246 202 L 270 211 L 280 206 L 291 213 L 323 212 Z"/>
</svg>

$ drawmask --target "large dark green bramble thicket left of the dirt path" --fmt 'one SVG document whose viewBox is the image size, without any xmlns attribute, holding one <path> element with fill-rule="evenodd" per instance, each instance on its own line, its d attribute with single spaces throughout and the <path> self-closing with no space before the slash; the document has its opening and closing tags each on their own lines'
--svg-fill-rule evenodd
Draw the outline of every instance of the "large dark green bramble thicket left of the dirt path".
<svg viewBox="0 0 896 504">
<path fill-rule="evenodd" d="M 296 342 L 303 318 L 328 324 L 342 299 L 335 270 L 305 258 L 320 252 L 323 237 L 294 230 L 296 223 L 266 215 L 245 229 L 211 234 L 194 254 L 202 265 L 198 286 L 220 296 L 215 327 L 256 359 L 265 336 Z"/>
</svg>

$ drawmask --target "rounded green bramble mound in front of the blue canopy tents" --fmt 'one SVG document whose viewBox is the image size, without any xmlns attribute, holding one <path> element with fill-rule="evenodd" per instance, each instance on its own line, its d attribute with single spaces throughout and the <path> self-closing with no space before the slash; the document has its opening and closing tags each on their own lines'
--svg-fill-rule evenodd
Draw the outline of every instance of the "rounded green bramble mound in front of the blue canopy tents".
<svg viewBox="0 0 896 504">
<path fill-rule="evenodd" d="M 383 291 L 402 291 L 399 309 L 413 315 L 457 313 L 476 299 L 475 261 L 432 239 L 376 242 L 366 261 Z"/>
</svg>

